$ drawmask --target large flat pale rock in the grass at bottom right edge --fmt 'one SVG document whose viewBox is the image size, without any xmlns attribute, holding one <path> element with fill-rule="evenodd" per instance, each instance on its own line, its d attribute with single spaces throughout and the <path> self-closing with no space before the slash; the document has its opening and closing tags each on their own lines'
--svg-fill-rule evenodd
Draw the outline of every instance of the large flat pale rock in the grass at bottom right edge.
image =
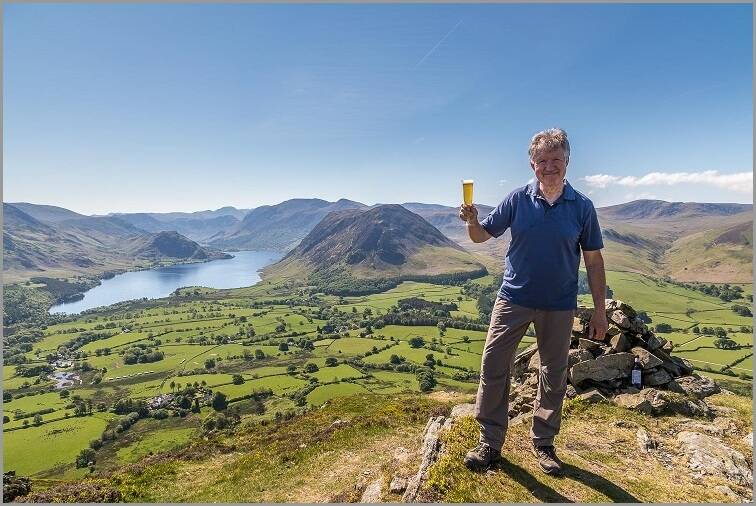
<svg viewBox="0 0 756 506">
<path fill-rule="evenodd" d="M 698 432 L 677 434 L 688 467 L 698 474 L 719 476 L 743 487 L 753 486 L 753 473 L 745 456 L 720 440 Z"/>
</svg>

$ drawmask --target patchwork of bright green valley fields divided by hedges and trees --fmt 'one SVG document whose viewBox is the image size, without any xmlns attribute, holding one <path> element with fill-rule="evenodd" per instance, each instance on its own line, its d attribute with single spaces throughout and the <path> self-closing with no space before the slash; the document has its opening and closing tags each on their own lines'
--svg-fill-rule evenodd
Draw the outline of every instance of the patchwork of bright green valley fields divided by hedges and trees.
<svg viewBox="0 0 756 506">
<path fill-rule="evenodd" d="M 489 275 L 474 282 L 488 284 L 494 279 Z M 749 318 L 736 315 L 730 309 L 731 303 L 634 273 L 608 272 L 607 279 L 615 298 L 646 311 L 652 319 L 652 327 L 657 323 L 670 323 L 674 327 L 673 332 L 660 335 L 677 346 L 675 354 L 691 360 L 694 365 L 714 370 L 721 370 L 723 366 L 742 358 L 740 363 L 733 366 L 733 371 L 750 374 L 752 356 L 748 355 L 752 353 L 752 335 L 741 332 L 740 326 L 752 325 L 752 322 Z M 203 300 L 204 297 L 216 297 L 219 292 L 223 292 L 221 300 Z M 746 286 L 746 292 L 751 293 L 750 285 Z M 46 353 L 69 345 L 80 333 L 71 329 L 94 330 L 98 325 L 114 324 L 115 327 L 108 331 L 119 332 L 117 335 L 90 342 L 77 350 L 82 354 L 79 362 L 86 360 L 93 368 L 104 369 L 102 382 L 92 384 L 96 371 L 81 373 L 84 384 L 71 388 L 72 395 L 110 407 L 121 397 L 150 400 L 158 394 L 179 391 L 194 383 L 201 387 L 204 381 L 212 392 L 226 394 L 233 401 L 231 406 L 240 410 L 244 421 L 252 422 L 271 421 L 284 412 L 303 409 L 295 402 L 297 395 L 301 396 L 299 401 L 305 405 L 320 406 L 328 400 L 351 394 L 419 393 L 420 385 L 414 373 L 377 368 L 389 364 L 392 355 L 404 357 L 406 363 L 418 366 L 426 362 L 428 355 L 440 361 L 434 369 L 437 381 L 434 390 L 468 394 L 477 390 L 477 381 L 454 378 L 464 377 L 459 376 L 463 370 L 479 371 L 486 340 L 484 330 L 448 327 L 442 332 L 436 325 L 386 325 L 373 326 L 372 333 L 360 337 L 361 333 L 365 334 L 359 322 L 368 314 L 365 313 L 366 309 L 369 308 L 372 317 L 376 317 L 386 313 L 400 299 L 409 297 L 453 302 L 459 310 L 453 311 L 452 316 L 477 318 L 476 301 L 462 295 L 459 286 L 404 282 L 384 293 L 344 297 L 343 301 L 340 297 L 319 294 L 319 302 L 312 305 L 299 302 L 281 304 L 281 299 L 290 297 L 293 292 L 280 285 L 261 284 L 227 291 L 203 290 L 203 293 L 194 300 L 159 299 L 151 302 L 153 307 L 145 309 L 107 310 L 82 316 L 72 322 L 51 325 L 25 356 L 33 360 L 35 352 L 39 350 L 40 358 L 44 359 Z M 265 301 L 276 303 L 253 307 Z M 592 305 L 589 295 L 581 295 L 580 302 Z M 332 312 L 333 308 L 341 312 Z M 356 309 L 356 314 L 352 308 Z M 319 318 L 319 310 L 325 310 L 327 316 Z M 328 318 L 342 323 L 348 321 L 349 324 L 341 327 L 338 335 L 321 335 L 318 328 L 325 326 Z M 728 330 L 730 337 L 741 348 L 717 349 L 711 336 L 692 333 L 690 329 L 695 325 L 731 329 Z M 283 331 L 281 328 L 276 330 L 279 326 Z M 121 332 L 122 328 L 130 331 Z M 253 334 L 249 332 L 250 329 L 254 330 Z M 160 344 L 148 339 L 150 334 Z M 251 341 L 245 343 L 250 336 L 253 336 Z M 411 347 L 409 340 L 413 337 L 421 337 L 424 345 Z M 304 339 L 312 340 L 314 349 L 298 347 L 297 343 Z M 227 342 L 224 344 L 224 341 Z M 151 363 L 125 364 L 119 351 L 135 342 L 148 344 L 163 352 L 163 359 Z M 279 350 L 282 342 L 288 342 L 289 351 Z M 534 337 L 525 336 L 520 347 L 533 342 Z M 106 347 L 110 348 L 110 354 L 97 356 L 96 350 Z M 255 350 L 262 350 L 265 357 L 255 358 Z M 336 358 L 338 364 L 326 367 L 329 357 Z M 213 367 L 206 364 L 208 359 L 214 359 Z M 314 363 L 319 370 L 305 373 L 308 363 Z M 290 366 L 294 367 L 293 373 L 287 370 Z M 185 374 L 190 371 L 192 374 Z M 22 378 L 15 374 L 15 366 L 3 367 L 3 386 L 15 394 L 53 388 L 50 380 L 34 385 L 37 378 Z M 242 384 L 233 383 L 236 374 L 243 377 Z M 313 381 L 317 382 L 314 384 L 316 386 L 309 390 Z M 735 378 L 733 381 L 742 380 Z M 171 383 L 174 383 L 173 388 Z M 243 398 L 265 389 L 270 389 L 273 394 L 264 401 L 266 409 L 260 414 L 254 410 L 254 400 Z M 211 395 L 212 392 L 206 393 Z M 70 406 L 66 408 L 69 403 L 70 400 L 60 398 L 57 390 L 45 390 L 38 395 L 4 403 L 6 415 L 11 418 L 4 426 L 6 469 L 16 469 L 22 475 L 56 479 L 77 477 L 86 472 L 74 469 L 75 456 L 92 439 L 99 437 L 108 422 L 111 422 L 112 428 L 113 420 L 118 417 L 109 412 L 96 412 L 91 416 L 66 419 L 65 414 L 72 412 Z M 32 413 L 49 408 L 55 411 L 43 415 L 45 423 L 38 427 L 24 428 L 21 420 L 13 419 L 16 411 Z M 106 443 L 102 450 L 98 450 L 97 455 L 104 460 L 98 460 L 96 467 L 109 469 L 111 465 L 135 462 L 150 452 L 158 453 L 190 443 L 199 437 L 201 419 L 213 412 L 209 405 L 202 406 L 201 410 L 199 416 L 170 417 L 161 421 L 140 420 L 116 442 Z M 8 430 L 14 428 L 18 429 Z"/>
</svg>

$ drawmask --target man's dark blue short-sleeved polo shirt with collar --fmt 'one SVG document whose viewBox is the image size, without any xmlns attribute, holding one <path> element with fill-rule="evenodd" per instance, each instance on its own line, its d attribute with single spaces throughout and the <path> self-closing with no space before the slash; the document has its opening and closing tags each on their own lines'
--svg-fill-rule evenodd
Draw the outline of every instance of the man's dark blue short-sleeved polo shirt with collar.
<svg viewBox="0 0 756 506">
<path fill-rule="evenodd" d="M 507 195 L 480 224 L 494 237 L 507 228 L 512 232 L 499 297 L 534 309 L 577 307 L 580 250 L 604 247 L 588 197 L 565 179 L 562 194 L 549 205 L 534 179 Z"/>
</svg>

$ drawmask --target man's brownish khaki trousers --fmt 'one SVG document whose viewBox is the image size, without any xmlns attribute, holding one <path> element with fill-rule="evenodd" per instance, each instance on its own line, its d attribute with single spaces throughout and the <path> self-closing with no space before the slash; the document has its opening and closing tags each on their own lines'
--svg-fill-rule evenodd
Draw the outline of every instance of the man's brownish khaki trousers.
<svg viewBox="0 0 756 506">
<path fill-rule="evenodd" d="M 531 309 L 496 297 L 483 348 L 475 401 L 475 418 L 480 424 L 481 442 L 498 450 L 504 444 L 509 418 L 510 372 L 517 346 L 533 322 L 541 367 L 530 436 L 536 446 L 553 444 L 562 421 L 574 316 L 574 309 Z"/>
</svg>

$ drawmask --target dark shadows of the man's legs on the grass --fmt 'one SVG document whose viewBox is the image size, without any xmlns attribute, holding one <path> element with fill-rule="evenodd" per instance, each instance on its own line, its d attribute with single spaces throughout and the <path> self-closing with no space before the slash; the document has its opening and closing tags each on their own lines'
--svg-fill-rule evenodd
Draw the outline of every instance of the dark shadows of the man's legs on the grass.
<svg viewBox="0 0 756 506">
<path fill-rule="evenodd" d="M 572 499 L 560 494 L 550 486 L 540 482 L 528 470 L 514 464 L 513 462 L 502 460 L 497 468 L 525 487 L 531 494 L 533 494 L 534 498 L 541 502 L 574 502 Z M 585 469 L 575 467 L 572 464 L 564 463 L 564 478 L 572 479 L 587 487 L 591 487 L 607 496 L 613 502 L 640 502 L 635 496 L 606 478 Z"/>
</svg>

